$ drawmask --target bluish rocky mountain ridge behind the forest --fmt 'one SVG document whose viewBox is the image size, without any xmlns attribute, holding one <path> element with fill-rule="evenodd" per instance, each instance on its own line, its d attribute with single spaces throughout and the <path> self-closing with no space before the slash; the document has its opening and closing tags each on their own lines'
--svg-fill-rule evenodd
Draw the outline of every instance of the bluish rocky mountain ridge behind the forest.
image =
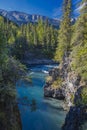
<svg viewBox="0 0 87 130">
<path fill-rule="evenodd" d="M 4 16 L 5 18 L 8 18 L 9 20 L 15 22 L 18 25 L 26 24 L 26 23 L 37 23 L 38 20 L 41 18 L 43 21 L 46 21 L 48 19 L 49 24 L 58 27 L 60 24 L 59 19 L 52 19 L 48 18 L 46 16 L 42 15 L 36 15 L 36 14 L 27 14 L 19 11 L 6 11 L 0 9 L 0 15 Z"/>
</svg>

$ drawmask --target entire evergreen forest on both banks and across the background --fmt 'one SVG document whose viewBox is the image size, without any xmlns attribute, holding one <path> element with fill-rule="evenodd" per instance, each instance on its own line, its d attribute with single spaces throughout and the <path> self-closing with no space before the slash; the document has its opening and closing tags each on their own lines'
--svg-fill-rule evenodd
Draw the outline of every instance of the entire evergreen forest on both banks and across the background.
<svg viewBox="0 0 87 130">
<path fill-rule="evenodd" d="M 0 119 L 8 123 L 8 115 L 3 112 L 3 107 L 12 112 L 11 106 L 16 102 L 16 82 L 26 77 L 27 67 L 21 62 L 28 53 L 43 55 L 60 63 L 58 75 L 49 76 L 51 88 L 67 91 L 66 86 L 74 84 L 73 92 L 67 91 L 64 97 L 72 106 L 87 106 L 87 0 L 80 3 L 82 9 L 75 24 L 72 24 L 72 1 L 64 0 L 63 17 L 60 28 L 48 24 L 48 20 L 38 23 L 28 23 L 21 26 L 0 16 Z M 83 6 L 84 5 L 84 6 Z M 78 82 L 74 83 L 73 78 Z M 76 88 L 77 86 L 77 88 Z M 69 88 L 68 88 L 69 89 Z M 79 92 L 78 92 L 79 91 Z M 79 93 L 79 94 L 78 94 Z M 13 105 L 14 104 L 14 105 Z M 14 127 L 11 124 L 10 127 Z M 7 129 L 10 130 L 8 127 Z M 14 127 L 12 130 L 19 130 Z M 66 130 L 66 129 L 64 129 Z M 67 129 L 68 130 L 68 129 Z"/>
</svg>

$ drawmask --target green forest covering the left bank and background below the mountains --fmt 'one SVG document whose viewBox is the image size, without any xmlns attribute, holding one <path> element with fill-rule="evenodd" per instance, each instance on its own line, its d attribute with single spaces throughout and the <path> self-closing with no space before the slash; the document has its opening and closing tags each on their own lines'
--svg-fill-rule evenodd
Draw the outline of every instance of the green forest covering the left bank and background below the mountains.
<svg viewBox="0 0 87 130">
<path fill-rule="evenodd" d="M 43 23 L 40 20 L 38 24 L 34 25 L 30 23 L 19 27 L 15 23 L 0 16 L 1 86 L 3 84 L 6 86 L 8 84 L 9 86 L 10 83 L 13 86 L 16 83 L 22 71 L 25 70 L 25 66 L 20 63 L 20 60 L 23 59 L 26 51 L 35 52 L 35 49 L 39 49 L 40 55 L 43 53 L 48 57 L 53 57 L 58 42 L 57 37 L 58 30 L 48 25 L 47 21 Z M 7 88 L 9 89 L 9 87 Z M 8 95 L 9 93 L 11 94 L 11 92 L 6 93 Z"/>
</svg>

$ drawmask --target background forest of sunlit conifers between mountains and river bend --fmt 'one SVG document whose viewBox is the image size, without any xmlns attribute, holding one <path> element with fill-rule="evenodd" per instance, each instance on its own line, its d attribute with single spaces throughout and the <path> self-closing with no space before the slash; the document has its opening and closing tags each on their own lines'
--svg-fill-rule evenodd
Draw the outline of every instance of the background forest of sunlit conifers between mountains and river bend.
<svg viewBox="0 0 87 130">
<path fill-rule="evenodd" d="M 48 20 L 44 23 L 40 19 L 36 24 L 29 23 L 20 27 L 3 17 L 0 21 L 5 31 L 8 48 L 13 56 L 23 59 L 25 51 L 39 49 L 39 53 L 53 57 L 58 43 L 58 30 L 49 25 Z"/>
</svg>

